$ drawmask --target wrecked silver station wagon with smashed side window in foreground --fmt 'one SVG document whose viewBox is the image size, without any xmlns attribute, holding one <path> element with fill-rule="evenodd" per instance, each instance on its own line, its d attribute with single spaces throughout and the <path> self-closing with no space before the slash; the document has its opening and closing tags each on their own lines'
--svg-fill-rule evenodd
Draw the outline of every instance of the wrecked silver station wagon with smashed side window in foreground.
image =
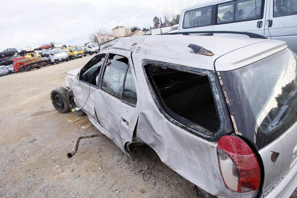
<svg viewBox="0 0 297 198">
<path fill-rule="evenodd" d="M 149 145 L 199 196 L 289 197 L 297 186 L 296 54 L 283 41 L 232 34 L 251 38 L 105 43 L 68 72 L 69 91 L 53 90 L 52 104 L 86 113 L 128 156 Z M 67 157 L 80 139 L 96 136 L 78 137 Z"/>
</svg>

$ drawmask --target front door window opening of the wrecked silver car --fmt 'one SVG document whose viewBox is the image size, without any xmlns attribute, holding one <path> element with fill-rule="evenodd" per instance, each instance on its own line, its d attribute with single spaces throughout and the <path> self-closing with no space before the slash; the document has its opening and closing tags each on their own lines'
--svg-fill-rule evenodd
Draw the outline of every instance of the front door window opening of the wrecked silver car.
<svg viewBox="0 0 297 198">
<path fill-rule="evenodd" d="M 86 64 L 86 66 L 81 69 L 80 80 L 96 86 L 96 77 L 99 75 L 104 60 L 105 54 L 95 56 L 88 64 Z"/>
</svg>

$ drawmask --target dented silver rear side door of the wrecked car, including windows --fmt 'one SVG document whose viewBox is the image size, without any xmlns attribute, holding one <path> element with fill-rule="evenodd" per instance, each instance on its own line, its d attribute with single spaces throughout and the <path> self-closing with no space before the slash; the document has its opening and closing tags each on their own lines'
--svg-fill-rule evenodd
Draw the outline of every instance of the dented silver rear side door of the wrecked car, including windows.
<svg viewBox="0 0 297 198">
<path fill-rule="evenodd" d="M 100 124 L 120 147 L 131 142 L 138 121 L 137 83 L 131 52 L 111 49 L 95 96 Z"/>
</svg>

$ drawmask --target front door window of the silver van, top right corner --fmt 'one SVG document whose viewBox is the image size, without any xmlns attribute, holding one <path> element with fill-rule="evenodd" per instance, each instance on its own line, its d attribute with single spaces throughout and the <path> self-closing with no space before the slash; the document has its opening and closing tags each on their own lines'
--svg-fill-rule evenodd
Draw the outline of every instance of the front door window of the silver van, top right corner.
<svg viewBox="0 0 297 198">
<path fill-rule="evenodd" d="M 274 0 L 273 16 L 287 16 L 297 14 L 297 0 Z"/>
</svg>

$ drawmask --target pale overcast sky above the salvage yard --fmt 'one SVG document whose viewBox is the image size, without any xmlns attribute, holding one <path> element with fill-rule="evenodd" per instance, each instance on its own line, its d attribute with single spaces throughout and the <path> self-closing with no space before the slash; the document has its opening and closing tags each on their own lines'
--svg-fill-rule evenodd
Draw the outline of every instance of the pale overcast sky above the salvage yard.
<svg viewBox="0 0 297 198">
<path fill-rule="evenodd" d="M 164 8 L 180 14 L 183 7 L 206 0 L 39 0 L 1 1 L 0 51 L 39 47 L 54 41 L 83 45 L 97 28 L 153 27 L 154 16 L 164 21 Z"/>
</svg>

